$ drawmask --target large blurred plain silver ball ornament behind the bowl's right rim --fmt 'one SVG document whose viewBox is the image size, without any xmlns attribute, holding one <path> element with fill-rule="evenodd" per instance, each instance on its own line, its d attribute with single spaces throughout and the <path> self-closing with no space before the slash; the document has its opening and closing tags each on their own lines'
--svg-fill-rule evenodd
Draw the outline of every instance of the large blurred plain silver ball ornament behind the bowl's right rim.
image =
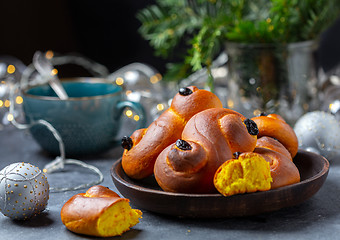
<svg viewBox="0 0 340 240">
<path fill-rule="evenodd" d="M 323 111 L 309 112 L 298 119 L 294 131 L 299 148 L 328 160 L 340 155 L 340 123 L 334 115 Z"/>
</svg>

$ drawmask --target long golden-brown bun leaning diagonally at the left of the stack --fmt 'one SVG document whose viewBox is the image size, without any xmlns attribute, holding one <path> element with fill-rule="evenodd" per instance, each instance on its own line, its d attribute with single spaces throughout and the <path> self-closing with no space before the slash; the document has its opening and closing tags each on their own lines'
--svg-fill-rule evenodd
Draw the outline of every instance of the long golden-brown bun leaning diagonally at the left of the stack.
<svg viewBox="0 0 340 240">
<path fill-rule="evenodd" d="M 122 166 L 125 173 L 134 179 L 142 179 L 153 174 L 158 155 L 181 137 L 189 119 L 208 108 L 222 107 L 218 97 L 197 87 L 188 87 L 191 94 L 176 94 L 171 106 L 147 129 L 132 134 L 131 149 L 125 149 Z"/>
</svg>

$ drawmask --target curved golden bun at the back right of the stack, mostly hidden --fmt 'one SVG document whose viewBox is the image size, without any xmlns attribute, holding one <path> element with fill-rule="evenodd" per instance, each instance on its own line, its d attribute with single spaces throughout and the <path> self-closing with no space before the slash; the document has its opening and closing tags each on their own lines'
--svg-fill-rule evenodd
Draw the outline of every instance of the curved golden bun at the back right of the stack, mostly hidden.
<svg viewBox="0 0 340 240">
<path fill-rule="evenodd" d="M 298 139 L 293 128 L 278 114 L 252 118 L 259 129 L 258 137 L 268 136 L 277 139 L 294 158 L 298 151 Z"/>
</svg>

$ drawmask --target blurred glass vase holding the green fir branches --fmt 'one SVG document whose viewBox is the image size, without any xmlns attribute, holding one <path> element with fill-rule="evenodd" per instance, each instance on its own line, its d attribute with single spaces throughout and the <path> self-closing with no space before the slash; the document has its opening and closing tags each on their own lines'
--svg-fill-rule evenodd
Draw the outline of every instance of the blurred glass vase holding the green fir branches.
<svg viewBox="0 0 340 240">
<path fill-rule="evenodd" d="M 226 43 L 228 108 L 246 117 L 280 114 L 294 124 L 317 107 L 315 41 L 291 44 Z"/>
</svg>

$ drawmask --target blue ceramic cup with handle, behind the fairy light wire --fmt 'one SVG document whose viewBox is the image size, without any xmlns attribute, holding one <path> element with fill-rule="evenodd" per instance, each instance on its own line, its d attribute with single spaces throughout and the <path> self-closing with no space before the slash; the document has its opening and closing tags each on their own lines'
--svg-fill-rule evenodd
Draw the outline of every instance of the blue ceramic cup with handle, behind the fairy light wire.
<svg viewBox="0 0 340 240">
<path fill-rule="evenodd" d="M 124 109 L 139 115 L 136 128 L 145 127 L 145 113 L 138 103 L 124 100 L 123 89 L 100 78 L 62 81 L 69 98 L 59 99 L 49 85 L 23 91 L 28 123 L 46 120 L 60 134 L 67 156 L 92 155 L 114 147 L 122 127 Z M 46 151 L 59 155 L 59 143 L 46 126 L 30 128 L 33 138 Z"/>
</svg>

